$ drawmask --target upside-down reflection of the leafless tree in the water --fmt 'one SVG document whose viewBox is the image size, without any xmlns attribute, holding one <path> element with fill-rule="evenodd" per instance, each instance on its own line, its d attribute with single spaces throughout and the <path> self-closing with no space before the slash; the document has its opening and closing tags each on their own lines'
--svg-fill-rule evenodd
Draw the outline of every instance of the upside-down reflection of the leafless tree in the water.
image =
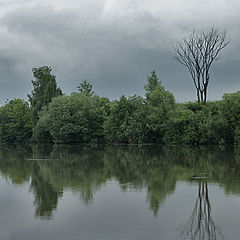
<svg viewBox="0 0 240 240">
<path fill-rule="evenodd" d="M 208 197 L 207 182 L 200 181 L 198 198 L 192 215 L 180 235 L 184 240 L 220 240 L 224 239 L 219 229 L 215 226 L 211 216 L 211 204 Z"/>
</svg>

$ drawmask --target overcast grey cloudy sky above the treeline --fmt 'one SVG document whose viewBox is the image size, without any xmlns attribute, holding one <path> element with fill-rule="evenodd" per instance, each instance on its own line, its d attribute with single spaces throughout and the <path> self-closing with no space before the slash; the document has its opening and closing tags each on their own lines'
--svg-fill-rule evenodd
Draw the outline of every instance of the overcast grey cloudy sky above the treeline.
<svg viewBox="0 0 240 240">
<path fill-rule="evenodd" d="M 32 68 L 51 66 L 69 94 L 82 79 L 101 96 L 144 94 L 153 69 L 178 102 L 195 100 L 172 46 L 193 29 L 227 30 L 209 100 L 240 90 L 239 0 L 0 0 L 0 104 L 26 98 Z"/>
</svg>

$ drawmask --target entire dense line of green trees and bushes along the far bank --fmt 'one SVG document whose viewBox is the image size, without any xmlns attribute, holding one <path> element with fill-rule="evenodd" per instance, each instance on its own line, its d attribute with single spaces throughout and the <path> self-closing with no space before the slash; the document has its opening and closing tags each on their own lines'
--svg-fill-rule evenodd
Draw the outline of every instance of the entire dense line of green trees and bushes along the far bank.
<svg viewBox="0 0 240 240">
<path fill-rule="evenodd" d="M 144 97 L 110 101 L 86 80 L 79 92 L 62 94 L 50 67 L 34 68 L 33 75 L 30 104 L 14 99 L 0 107 L 1 144 L 240 143 L 240 92 L 216 102 L 180 104 L 153 71 Z"/>
</svg>

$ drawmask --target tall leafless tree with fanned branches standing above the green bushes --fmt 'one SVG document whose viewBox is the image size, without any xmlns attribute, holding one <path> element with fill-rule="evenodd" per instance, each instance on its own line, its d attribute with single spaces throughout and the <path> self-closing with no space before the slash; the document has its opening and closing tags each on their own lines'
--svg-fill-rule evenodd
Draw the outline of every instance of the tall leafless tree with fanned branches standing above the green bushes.
<svg viewBox="0 0 240 240">
<path fill-rule="evenodd" d="M 226 39 L 226 31 L 219 33 L 195 31 L 187 39 L 178 42 L 174 47 L 175 59 L 187 67 L 197 92 L 197 101 L 206 104 L 207 88 L 210 80 L 210 68 L 217 60 L 219 52 L 230 41 Z"/>
</svg>

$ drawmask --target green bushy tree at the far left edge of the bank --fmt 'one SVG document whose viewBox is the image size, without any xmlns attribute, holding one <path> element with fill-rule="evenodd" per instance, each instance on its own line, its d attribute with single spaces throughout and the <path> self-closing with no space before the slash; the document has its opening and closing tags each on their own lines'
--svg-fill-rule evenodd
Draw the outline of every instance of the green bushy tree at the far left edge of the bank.
<svg viewBox="0 0 240 240">
<path fill-rule="evenodd" d="M 32 135 L 31 111 L 28 103 L 14 99 L 0 108 L 1 144 L 22 144 Z"/>
</svg>

